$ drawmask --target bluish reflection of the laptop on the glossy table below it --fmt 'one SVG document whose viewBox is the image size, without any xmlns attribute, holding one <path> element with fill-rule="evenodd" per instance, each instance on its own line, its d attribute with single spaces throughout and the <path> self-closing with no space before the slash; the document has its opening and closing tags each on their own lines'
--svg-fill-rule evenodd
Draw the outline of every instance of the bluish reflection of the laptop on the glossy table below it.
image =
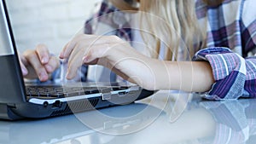
<svg viewBox="0 0 256 144">
<path fill-rule="evenodd" d="M 159 108 L 134 103 L 61 118 L 0 121 L 0 143 L 58 143 L 79 141 L 81 137 L 90 143 L 96 143 L 102 140 L 104 134 L 114 137 L 143 130 L 152 124 L 161 112 Z"/>
</svg>

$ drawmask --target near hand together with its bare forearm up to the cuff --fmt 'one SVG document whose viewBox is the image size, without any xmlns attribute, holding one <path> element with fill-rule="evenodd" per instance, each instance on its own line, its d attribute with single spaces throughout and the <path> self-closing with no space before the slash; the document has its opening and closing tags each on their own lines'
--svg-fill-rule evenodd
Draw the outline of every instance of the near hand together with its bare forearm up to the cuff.
<svg viewBox="0 0 256 144">
<path fill-rule="evenodd" d="M 149 90 L 205 92 L 214 83 L 212 68 L 207 61 L 151 59 L 116 36 L 79 35 L 67 43 L 60 58 L 68 58 L 67 79 L 74 78 L 83 64 L 98 64 Z"/>
</svg>

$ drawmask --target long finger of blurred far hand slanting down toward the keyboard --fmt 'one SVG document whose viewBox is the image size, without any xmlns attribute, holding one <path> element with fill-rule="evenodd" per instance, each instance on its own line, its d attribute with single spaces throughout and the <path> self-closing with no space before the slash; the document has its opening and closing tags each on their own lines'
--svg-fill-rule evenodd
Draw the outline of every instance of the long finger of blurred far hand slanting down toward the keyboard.
<svg viewBox="0 0 256 144">
<path fill-rule="evenodd" d="M 25 53 L 26 60 L 28 63 L 31 64 L 33 69 L 38 75 L 38 78 L 40 81 L 46 81 L 48 80 L 49 76 L 44 68 L 44 66 L 41 64 L 40 60 L 38 59 L 38 55 L 34 51 L 27 51 Z"/>
</svg>

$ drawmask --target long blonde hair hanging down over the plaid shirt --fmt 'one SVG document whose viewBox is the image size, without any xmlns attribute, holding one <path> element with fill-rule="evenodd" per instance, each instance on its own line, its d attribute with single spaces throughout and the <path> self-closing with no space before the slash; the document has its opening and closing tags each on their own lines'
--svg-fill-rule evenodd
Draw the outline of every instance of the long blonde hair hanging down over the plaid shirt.
<svg viewBox="0 0 256 144">
<path fill-rule="evenodd" d="M 110 1 L 120 8 L 120 0 Z M 129 9 L 136 8 L 126 5 L 125 10 Z M 141 0 L 138 11 L 141 12 L 141 29 L 151 33 L 151 37 L 143 32 L 142 36 L 152 48 L 153 58 L 159 57 L 163 41 L 167 48 L 164 60 L 177 60 L 180 50 L 183 58 L 190 60 L 196 51 L 205 46 L 207 30 L 199 25 L 194 0 Z"/>
</svg>

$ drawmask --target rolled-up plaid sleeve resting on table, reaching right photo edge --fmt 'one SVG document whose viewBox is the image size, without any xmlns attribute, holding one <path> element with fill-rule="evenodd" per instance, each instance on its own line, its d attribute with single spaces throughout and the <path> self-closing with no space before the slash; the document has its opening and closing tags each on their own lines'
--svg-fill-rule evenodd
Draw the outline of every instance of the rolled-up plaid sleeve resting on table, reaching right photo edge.
<svg viewBox="0 0 256 144">
<path fill-rule="evenodd" d="M 204 95 L 209 100 L 256 97 L 256 56 L 243 58 L 228 48 L 198 51 L 193 60 L 207 60 L 215 83 Z"/>
</svg>

